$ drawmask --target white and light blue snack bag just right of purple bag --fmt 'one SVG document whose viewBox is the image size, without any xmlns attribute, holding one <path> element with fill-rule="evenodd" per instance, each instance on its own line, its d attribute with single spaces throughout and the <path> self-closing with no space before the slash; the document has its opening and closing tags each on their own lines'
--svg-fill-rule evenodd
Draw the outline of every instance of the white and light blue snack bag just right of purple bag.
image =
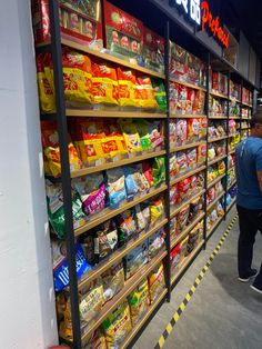
<svg viewBox="0 0 262 349">
<path fill-rule="evenodd" d="M 121 168 L 107 171 L 107 191 L 109 196 L 109 207 L 115 209 L 127 199 L 124 186 L 124 173 Z"/>
</svg>

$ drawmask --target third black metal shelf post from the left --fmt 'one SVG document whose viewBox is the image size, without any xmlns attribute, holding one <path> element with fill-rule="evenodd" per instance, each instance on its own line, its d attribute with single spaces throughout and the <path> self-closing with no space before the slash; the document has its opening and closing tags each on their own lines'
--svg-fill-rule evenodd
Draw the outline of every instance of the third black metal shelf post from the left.
<svg viewBox="0 0 262 349">
<path fill-rule="evenodd" d="M 210 100 L 210 53 L 208 52 L 206 57 L 206 96 L 205 96 L 205 114 L 206 114 L 206 136 L 205 136 L 205 142 L 206 142 L 206 157 L 205 157 L 205 174 L 204 174 L 204 229 L 203 229 L 203 236 L 204 236 L 204 250 L 206 249 L 206 242 L 208 242 L 208 227 L 206 227 L 206 218 L 208 218 L 208 171 L 209 171 L 209 157 L 208 157 L 208 148 L 209 148 L 209 100 Z"/>
</svg>

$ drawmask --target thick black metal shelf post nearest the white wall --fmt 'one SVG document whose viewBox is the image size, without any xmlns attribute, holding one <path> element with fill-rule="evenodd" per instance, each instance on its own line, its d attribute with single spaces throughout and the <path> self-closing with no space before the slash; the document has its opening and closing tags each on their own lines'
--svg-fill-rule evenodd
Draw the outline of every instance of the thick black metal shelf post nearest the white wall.
<svg viewBox="0 0 262 349">
<path fill-rule="evenodd" d="M 72 217 L 71 176 L 68 152 L 68 124 L 66 116 L 66 101 L 62 71 L 62 48 L 59 22 L 58 0 L 49 0 L 51 24 L 51 50 L 56 87 L 57 121 L 59 147 L 61 157 L 61 181 L 63 192 L 63 209 L 67 235 L 67 256 L 69 263 L 70 303 L 73 327 L 73 348 L 81 349 L 81 328 L 79 318 L 78 279 L 75 267 L 74 230 Z"/>
</svg>

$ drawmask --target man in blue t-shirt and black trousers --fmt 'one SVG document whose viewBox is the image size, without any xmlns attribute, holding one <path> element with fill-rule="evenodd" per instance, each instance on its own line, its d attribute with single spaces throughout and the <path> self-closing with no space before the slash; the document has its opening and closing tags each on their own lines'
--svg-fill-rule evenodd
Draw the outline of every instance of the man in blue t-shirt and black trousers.
<svg viewBox="0 0 262 349">
<path fill-rule="evenodd" d="M 252 118 L 250 124 L 251 137 L 243 140 L 235 151 L 239 280 L 248 282 L 255 277 L 251 288 L 262 293 L 262 266 L 260 272 L 251 269 L 255 236 L 259 230 L 262 232 L 262 111 Z"/>
</svg>

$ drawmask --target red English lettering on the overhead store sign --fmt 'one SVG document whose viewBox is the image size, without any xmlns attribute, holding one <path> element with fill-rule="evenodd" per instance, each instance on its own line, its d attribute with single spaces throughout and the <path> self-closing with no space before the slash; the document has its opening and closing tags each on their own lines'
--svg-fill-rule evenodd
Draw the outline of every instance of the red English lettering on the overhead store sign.
<svg viewBox="0 0 262 349">
<path fill-rule="evenodd" d="M 219 17 L 213 17 L 213 13 L 210 11 L 209 2 L 202 1 L 202 30 L 208 29 L 214 39 L 216 39 L 223 47 L 229 48 L 230 36 L 224 31 L 223 26 L 220 22 Z"/>
</svg>

